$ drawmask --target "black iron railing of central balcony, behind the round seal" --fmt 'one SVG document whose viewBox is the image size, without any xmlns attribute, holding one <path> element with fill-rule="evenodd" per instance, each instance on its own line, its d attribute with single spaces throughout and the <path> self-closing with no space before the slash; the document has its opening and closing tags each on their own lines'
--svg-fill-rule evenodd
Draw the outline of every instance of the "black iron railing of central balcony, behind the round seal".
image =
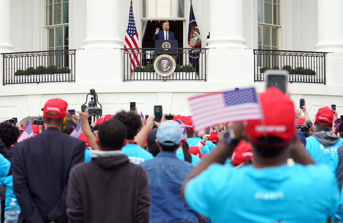
<svg viewBox="0 0 343 223">
<path fill-rule="evenodd" d="M 123 50 L 123 81 L 182 80 L 206 81 L 206 48 L 132 48 Z M 175 60 L 175 71 L 167 77 L 154 69 L 157 56 L 167 54 Z M 160 64 L 157 64 L 159 66 Z"/>
</svg>

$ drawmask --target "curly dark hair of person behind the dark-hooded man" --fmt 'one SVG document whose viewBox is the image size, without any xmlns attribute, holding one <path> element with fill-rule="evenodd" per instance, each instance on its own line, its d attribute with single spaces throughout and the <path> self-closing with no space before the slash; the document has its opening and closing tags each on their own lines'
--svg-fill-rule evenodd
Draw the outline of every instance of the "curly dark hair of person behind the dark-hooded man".
<svg viewBox="0 0 343 223">
<path fill-rule="evenodd" d="M 137 135 L 138 130 L 142 127 L 141 117 L 134 112 L 117 112 L 113 119 L 118 119 L 126 126 L 127 139 L 129 140 L 134 139 L 134 136 Z"/>
</svg>

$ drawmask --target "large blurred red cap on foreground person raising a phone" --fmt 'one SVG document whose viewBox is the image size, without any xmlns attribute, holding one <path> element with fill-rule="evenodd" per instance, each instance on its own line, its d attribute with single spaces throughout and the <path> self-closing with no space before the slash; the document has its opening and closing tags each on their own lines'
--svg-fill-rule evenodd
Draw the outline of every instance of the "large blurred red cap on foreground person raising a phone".
<svg viewBox="0 0 343 223">
<path fill-rule="evenodd" d="M 258 95 L 264 123 L 261 120 L 248 120 L 245 122 L 245 131 L 253 144 L 268 147 L 258 143 L 263 136 L 280 137 L 283 141 L 273 148 L 288 145 L 295 136 L 294 105 L 285 93 L 276 87 L 268 88 Z"/>
</svg>

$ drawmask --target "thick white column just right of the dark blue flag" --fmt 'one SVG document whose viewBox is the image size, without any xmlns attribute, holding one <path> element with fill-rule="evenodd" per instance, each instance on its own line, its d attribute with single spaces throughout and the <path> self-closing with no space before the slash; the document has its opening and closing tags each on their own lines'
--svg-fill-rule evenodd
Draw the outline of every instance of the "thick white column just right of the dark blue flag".
<svg viewBox="0 0 343 223">
<path fill-rule="evenodd" d="M 208 48 L 246 49 L 243 38 L 243 0 L 214 0 L 210 4 Z"/>
</svg>

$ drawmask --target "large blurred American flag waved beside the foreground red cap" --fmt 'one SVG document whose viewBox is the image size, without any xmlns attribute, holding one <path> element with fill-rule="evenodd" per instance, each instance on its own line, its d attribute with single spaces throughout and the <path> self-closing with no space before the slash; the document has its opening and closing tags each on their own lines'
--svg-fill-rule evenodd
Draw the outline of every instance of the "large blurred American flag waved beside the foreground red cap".
<svg viewBox="0 0 343 223">
<path fill-rule="evenodd" d="M 211 93 L 189 99 L 194 131 L 221 122 L 261 119 L 255 88 Z"/>
</svg>

